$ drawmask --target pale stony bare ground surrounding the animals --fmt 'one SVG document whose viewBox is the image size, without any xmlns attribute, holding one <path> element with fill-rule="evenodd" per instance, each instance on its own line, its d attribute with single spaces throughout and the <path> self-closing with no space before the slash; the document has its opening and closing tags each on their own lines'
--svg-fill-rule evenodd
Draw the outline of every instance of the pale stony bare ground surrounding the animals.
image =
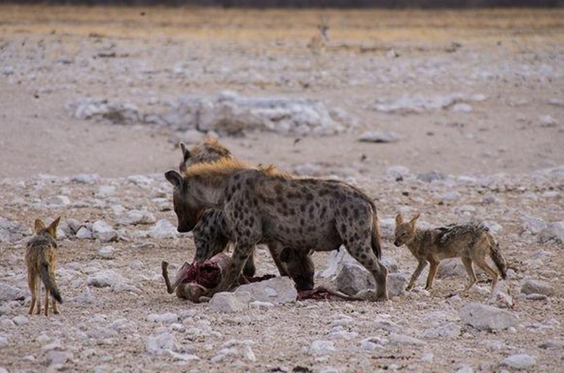
<svg viewBox="0 0 564 373">
<path fill-rule="evenodd" d="M 320 16 L 329 42 L 309 48 Z M 399 272 L 410 275 L 416 262 L 391 241 L 397 212 L 421 212 L 427 226 L 488 221 L 510 264 L 508 311 L 517 324 L 479 331 L 461 321 L 469 303 L 489 304 L 483 275 L 467 293 L 465 274 L 440 277 L 427 292 L 424 273 L 413 291 L 387 302 L 305 300 L 233 314 L 168 295 L 161 260 L 173 269 L 190 261 L 192 238 L 146 232 L 161 219 L 176 225 L 162 175 L 178 168 L 178 133 L 81 120 L 69 104 L 99 98 L 151 107 L 227 90 L 315 99 L 348 115 L 354 126 L 338 135 L 254 130 L 221 142 L 252 164 L 339 178 L 367 192 L 383 221 L 384 257 Z M 477 99 L 376 109 L 452 94 Z M 396 141 L 359 142 L 367 130 Z M 561 371 L 563 165 L 562 9 L 0 6 L 0 218 L 13 233 L 0 236 L 0 372 Z M 119 224 L 130 210 L 153 219 Z M 61 314 L 27 315 L 25 241 L 35 218 L 56 216 L 85 226 L 106 221 L 120 239 L 79 239 L 67 225 L 57 269 Z M 107 245 L 114 252 L 101 254 Z M 318 273 L 328 258 L 314 254 Z M 276 273 L 262 247 L 257 267 Z M 90 281 L 109 271 L 109 286 Z M 521 288 L 529 279 L 553 293 L 527 299 Z M 432 336 L 447 324 L 454 333 Z M 168 343 L 157 351 L 156 336 Z"/>
</svg>

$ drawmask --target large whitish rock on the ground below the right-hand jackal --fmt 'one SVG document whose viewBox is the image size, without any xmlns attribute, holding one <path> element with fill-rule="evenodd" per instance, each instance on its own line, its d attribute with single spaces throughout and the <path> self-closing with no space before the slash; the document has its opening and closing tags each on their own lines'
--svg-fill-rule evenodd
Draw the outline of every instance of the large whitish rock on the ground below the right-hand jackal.
<svg viewBox="0 0 564 373">
<path fill-rule="evenodd" d="M 519 319 L 511 312 L 497 307 L 470 303 L 458 312 L 462 324 L 478 330 L 501 330 L 517 326 Z"/>
</svg>

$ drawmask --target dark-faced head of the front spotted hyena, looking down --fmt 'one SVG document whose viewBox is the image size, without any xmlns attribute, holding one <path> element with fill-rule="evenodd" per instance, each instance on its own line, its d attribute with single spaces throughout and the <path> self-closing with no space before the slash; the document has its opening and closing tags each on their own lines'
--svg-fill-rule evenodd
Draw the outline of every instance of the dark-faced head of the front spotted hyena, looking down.
<svg viewBox="0 0 564 373">
<path fill-rule="evenodd" d="M 202 209 L 188 190 L 188 185 L 180 173 L 168 171 L 164 177 L 174 187 L 172 201 L 174 212 L 178 218 L 176 230 L 180 233 L 190 232 L 196 225 Z"/>
</svg>

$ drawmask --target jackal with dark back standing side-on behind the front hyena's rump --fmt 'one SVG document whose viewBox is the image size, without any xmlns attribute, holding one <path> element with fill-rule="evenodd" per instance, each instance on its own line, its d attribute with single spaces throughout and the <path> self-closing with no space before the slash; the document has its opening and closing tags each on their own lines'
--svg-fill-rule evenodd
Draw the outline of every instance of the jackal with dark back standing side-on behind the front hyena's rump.
<svg viewBox="0 0 564 373">
<path fill-rule="evenodd" d="M 433 287 L 439 262 L 442 259 L 453 257 L 460 257 L 468 274 L 469 279 L 464 291 L 470 289 L 477 281 L 472 263 L 484 270 L 491 278 L 492 290 L 496 286 L 498 274 L 487 264 L 486 255 L 489 255 L 494 261 L 501 277 L 506 278 L 505 258 L 499 250 L 497 240 L 491 235 L 488 228 L 477 224 L 450 224 L 440 228 L 419 229 L 415 226 L 417 219 L 419 219 L 419 214 L 413 216 L 410 221 L 404 221 L 401 214 L 396 216 L 393 244 L 398 247 L 407 245 L 418 261 L 417 268 L 407 284 L 407 291 L 414 286 L 423 269 L 427 267 L 427 262 L 430 267 L 425 289 L 430 290 Z"/>
</svg>

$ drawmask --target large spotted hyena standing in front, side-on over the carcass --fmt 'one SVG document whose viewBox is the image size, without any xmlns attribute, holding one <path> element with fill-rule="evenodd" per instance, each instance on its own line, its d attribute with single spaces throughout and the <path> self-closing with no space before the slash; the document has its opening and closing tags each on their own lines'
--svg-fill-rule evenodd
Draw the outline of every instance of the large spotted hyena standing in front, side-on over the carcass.
<svg viewBox="0 0 564 373">
<path fill-rule="evenodd" d="M 168 171 L 174 186 L 173 204 L 178 231 L 191 231 L 199 212 L 222 210 L 235 243 L 233 263 L 212 293 L 226 291 L 261 241 L 276 240 L 294 250 L 337 250 L 344 244 L 350 255 L 376 280 L 376 298 L 388 298 L 387 270 L 379 262 L 379 220 L 372 200 L 351 185 L 314 178 L 250 169 L 236 159 L 195 164 L 181 176 Z"/>
</svg>

